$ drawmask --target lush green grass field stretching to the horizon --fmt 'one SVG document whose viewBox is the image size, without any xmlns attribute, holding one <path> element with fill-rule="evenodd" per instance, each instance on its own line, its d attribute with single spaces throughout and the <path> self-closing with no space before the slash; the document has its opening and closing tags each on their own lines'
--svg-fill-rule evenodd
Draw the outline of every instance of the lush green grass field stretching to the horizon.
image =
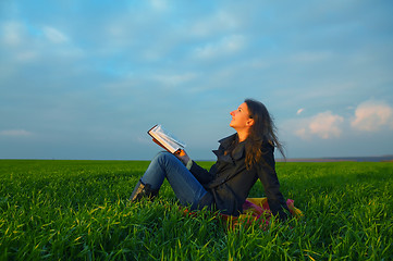
<svg viewBox="0 0 393 261">
<path fill-rule="evenodd" d="M 185 216 L 167 182 L 128 206 L 148 163 L 0 160 L 0 260 L 393 260 L 393 163 L 278 163 L 305 216 L 267 231 Z"/>
</svg>

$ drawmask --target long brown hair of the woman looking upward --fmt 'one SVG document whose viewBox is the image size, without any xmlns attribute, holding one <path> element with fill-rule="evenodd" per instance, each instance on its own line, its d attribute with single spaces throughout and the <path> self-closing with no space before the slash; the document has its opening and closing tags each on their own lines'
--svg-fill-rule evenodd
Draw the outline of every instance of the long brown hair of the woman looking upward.
<svg viewBox="0 0 393 261">
<path fill-rule="evenodd" d="M 262 158 L 262 142 L 271 142 L 285 159 L 284 148 L 277 136 L 277 127 L 268 109 L 262 102 L 253 99 L 245 99 L 244 102 L 248 108 L 248 116 L 254 120 L 254 125 L 245 144 L 247 169 L 250 169 L 254 163 L 259 162 Z"/>
</svg>

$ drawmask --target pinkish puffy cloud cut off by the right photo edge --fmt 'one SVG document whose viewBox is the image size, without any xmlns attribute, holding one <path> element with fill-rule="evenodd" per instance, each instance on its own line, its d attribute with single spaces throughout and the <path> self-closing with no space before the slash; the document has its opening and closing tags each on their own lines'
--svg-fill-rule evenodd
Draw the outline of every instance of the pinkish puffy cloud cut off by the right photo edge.
<svg viewBox="0 0 393 261">
<path fill-rule="evenodd" d="M 393 128 L 393 109 L 383 101 L 365 101 L 356 108 L 351 125 L 365 132 L 377 132 L 383 126 Z"/>
</svg>

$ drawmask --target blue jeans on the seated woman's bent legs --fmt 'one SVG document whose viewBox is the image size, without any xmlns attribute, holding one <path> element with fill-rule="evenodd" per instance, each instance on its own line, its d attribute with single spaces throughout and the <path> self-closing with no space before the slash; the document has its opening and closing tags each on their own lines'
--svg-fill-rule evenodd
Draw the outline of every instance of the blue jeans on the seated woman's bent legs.
<svg viewBox="0 0 393 261">
<path fill-rule="evenodd" d="M 160 189 L 167 177 L 174 194 L 183 206 L 202 209 L 211 206 L 212 196 L 172 153 L 159 152 L 147 167 L 142 182 L 150 184 L 151 189 Z"/>
</svg>

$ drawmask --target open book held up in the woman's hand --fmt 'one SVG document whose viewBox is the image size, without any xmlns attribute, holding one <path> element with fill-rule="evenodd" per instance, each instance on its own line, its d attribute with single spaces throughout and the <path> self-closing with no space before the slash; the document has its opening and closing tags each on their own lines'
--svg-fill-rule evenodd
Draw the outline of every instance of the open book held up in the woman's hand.
<svg viewBox="0 0 393 261">
<path fill-rule="evenodd" d="M 147 132 L 151 137 L 152 141 L 164 148 L 171 153 L 175 153 L 179 150 L 185 148 L 185 144 L 177 138 L 175 138 L 172 134 L 165 130 L 160 124 L 153 126 Z"/>
</svg>

